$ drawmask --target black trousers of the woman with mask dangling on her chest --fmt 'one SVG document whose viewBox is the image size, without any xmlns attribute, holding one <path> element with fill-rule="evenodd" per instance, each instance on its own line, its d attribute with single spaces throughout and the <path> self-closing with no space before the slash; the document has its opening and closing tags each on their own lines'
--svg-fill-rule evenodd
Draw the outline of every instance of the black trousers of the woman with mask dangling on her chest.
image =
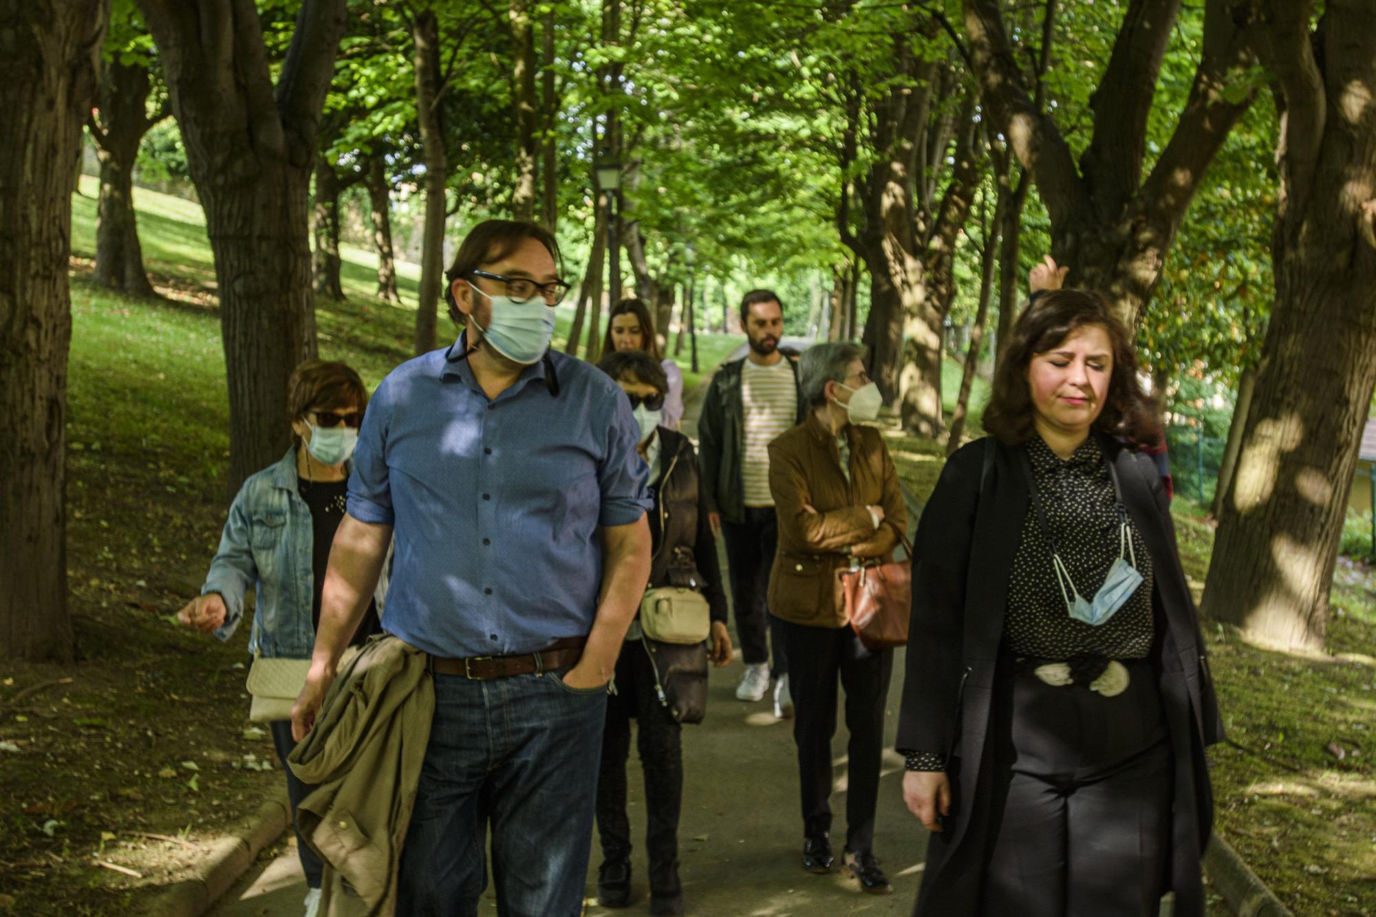
<svg viewBox="0 0 1376 917">
<path fill-rule="evenodd" d="M 1128 662 L 1116 697 L 1003 679 L 981 914 L 1156 917 L 1167 888 L 1171 745 L 1159 682 Z"/>
</svg>

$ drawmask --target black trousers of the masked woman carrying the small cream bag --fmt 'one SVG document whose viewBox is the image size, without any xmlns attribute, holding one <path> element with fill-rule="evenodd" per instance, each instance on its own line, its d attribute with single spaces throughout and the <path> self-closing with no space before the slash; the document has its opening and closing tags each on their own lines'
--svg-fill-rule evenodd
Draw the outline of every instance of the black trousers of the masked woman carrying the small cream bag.
<svg viewBox="0 0 1376 917">
<path fill-rule="evenodd" d="M 630 856 L 630 819 L 626 816 L 626 759 L 630 720 L 645 770 L 645 852 L 649 885 L 656 895 L 677 895 L 678 812 L 682 808 L 682 727 L 659 704 L 655 673 L 645 647 L 626 643 L 616 660 L 616 693 L 607 698 L 607 727 L 597 774 L 597 833 L 603 859 Z"/>
</svg>

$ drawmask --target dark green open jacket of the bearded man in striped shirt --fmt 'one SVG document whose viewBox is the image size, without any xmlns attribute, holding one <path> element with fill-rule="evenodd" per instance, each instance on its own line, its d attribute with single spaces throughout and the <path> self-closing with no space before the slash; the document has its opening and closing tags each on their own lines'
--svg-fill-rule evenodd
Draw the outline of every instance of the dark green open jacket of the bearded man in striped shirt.
<svg viewBox="0 0 1376 917">
<path fill-rule="evenodd" d="M 780 351 L 793 368 L 794 383 L 798 381 L 798 359 L 788 351 Z M 740 369 L 747 358 L 722 363 L 711 377 L 707 398 L 702 402 L 702 416 L 698 419 L 698 472 L 702 475 L 702 490 L 707 512 L 721 514 L 722 522 L 746 520 L 744 485 L 740 482 L 740 457 L 746 447 L 746 409 L 740 401 Z M 808 405 L 798 387 L 798 416 L 794 423 L 802 423 L 808 416 Z"/>
</svg>

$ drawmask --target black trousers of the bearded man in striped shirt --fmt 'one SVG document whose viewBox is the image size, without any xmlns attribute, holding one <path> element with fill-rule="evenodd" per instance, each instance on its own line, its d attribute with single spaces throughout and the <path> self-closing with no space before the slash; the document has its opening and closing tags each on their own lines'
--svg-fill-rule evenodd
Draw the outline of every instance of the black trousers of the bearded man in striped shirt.
<svg viewBox="0 0 1376 917">
<path fill-rule="evenodd" d="M 736 636 L 740 657 L 754 665 L 769 661 L 773 637 L 773 673 L 788 671 L 788 658 L 779 636 L 776 618 L 769 614 L 769 567 L 779 547 L 779 523 L 773 507 L 746 507 L 743 523 L 721 520 L 727 540 L 727 570 L 731 573 L 731 603 L 736 609 Z M 790 686 L 791 690 L 791 686 Z"/>
</svg>

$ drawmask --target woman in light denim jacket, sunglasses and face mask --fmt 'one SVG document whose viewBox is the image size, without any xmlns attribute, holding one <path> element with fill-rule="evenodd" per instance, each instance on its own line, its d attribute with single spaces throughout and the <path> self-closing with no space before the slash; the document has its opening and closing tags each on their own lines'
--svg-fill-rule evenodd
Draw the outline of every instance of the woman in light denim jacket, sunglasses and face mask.
<svg viewBox="0 0 1376 917">
<path fill-rule="evenodd" d="M 253 587 L 249 651 L 255 657 L 311 658 L 325 567 L 334 530 L 344 518 L 350 456 L 366 408 L 363 380 L 344 363 L 308 359 L 292 372 L 288 410 L 296 442 L 279 461 L 239 487 L 201 595 L 178 614 L 184 624 L 230 639 L 244 617 L 244 595 Z M 381 631 L 385 592 L 384 576 L 354 643 Z M 296 745 L 292 721 L 277 720 L 268 727 L 286 772 L 294 822 L 297 804 L 314 788 L 301 783 L 286 766 Z M 296 844 L 305 873 L 305 914 L 315 917 L 322 865 L 300 833 Z"/>
</svg>

